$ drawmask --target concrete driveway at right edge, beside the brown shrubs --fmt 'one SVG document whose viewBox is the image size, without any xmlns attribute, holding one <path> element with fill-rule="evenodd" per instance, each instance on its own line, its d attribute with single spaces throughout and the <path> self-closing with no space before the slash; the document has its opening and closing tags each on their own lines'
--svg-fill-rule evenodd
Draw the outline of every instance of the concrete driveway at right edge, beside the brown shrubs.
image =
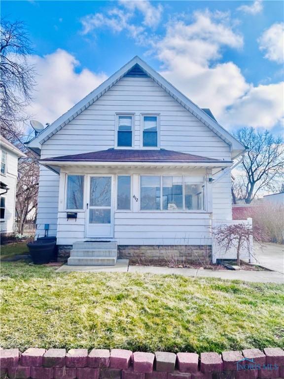
<svg viewBox="0 0 284 379">
<path fill-rule="evenodd" d="M 260 249 L 255 243 L 253 250 L 259 265 L 284 274 L 284 245 L 265 243 Z"/>
</svg>

